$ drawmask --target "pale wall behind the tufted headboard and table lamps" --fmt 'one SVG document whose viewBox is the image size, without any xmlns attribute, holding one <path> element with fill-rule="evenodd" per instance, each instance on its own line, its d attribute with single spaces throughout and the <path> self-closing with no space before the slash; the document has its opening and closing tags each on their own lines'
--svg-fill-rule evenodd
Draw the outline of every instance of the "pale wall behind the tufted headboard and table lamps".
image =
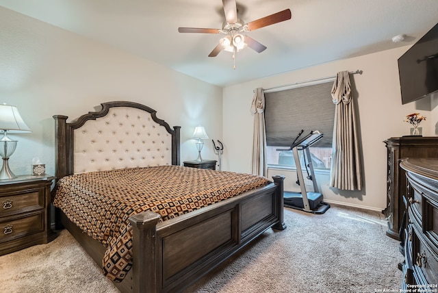
<svg viewBox="0 0 438 293">
<path fill-rule="evenodd" d="M 106 101 L 142 103 L 181 126 L 181 164 L 197 157 L 190 140 L 197 125 L 222 138 L 222 88 L 1 7 L 0 19 L 0 103 L 16 105 L 32 129 L 10 135 L 18 140 L 10 158 L 16 175 L 29 174 L 34 157 L 53 175 L 52 116 L 70 121 Z M 211 141 L 203 157 L 216 157 Z"/>
</svg>

